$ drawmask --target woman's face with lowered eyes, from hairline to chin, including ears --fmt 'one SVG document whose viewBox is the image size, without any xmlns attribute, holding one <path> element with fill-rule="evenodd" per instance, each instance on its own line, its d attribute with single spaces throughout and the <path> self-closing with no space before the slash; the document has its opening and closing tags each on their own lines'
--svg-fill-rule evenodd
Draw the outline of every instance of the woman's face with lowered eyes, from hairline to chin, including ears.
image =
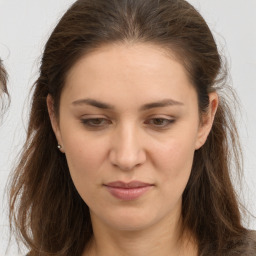
<svg viewBox="0 0 256 256">
<path fill-rule="evenodd" d="M 93 222 L 139 230 L 180 215 L 216 97 L 210 96 L 213 110 L 200 124 L 197 94 L 183 66 L 153 45 L 104 46 L 73 66 L 58 121 L 50 97 L 48 107 Z"/>
</svg>

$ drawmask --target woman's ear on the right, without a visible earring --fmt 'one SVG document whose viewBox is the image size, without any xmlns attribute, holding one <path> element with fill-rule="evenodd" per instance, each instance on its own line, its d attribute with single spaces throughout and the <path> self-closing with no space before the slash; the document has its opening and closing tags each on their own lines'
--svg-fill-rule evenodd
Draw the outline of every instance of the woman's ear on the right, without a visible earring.
<svg viewBox="0 0 256 256">
<path fill-rule="evenodd" d="M 206 113 L 202 114 L 198 129 L 198 136 L 195 144 L 195 149 L 199 149 L 204 145 L 211 131 L 214 117 L 218 108 L 219 97 L 216 92 L 209 94 L 209 107 Z"/>
</svg>

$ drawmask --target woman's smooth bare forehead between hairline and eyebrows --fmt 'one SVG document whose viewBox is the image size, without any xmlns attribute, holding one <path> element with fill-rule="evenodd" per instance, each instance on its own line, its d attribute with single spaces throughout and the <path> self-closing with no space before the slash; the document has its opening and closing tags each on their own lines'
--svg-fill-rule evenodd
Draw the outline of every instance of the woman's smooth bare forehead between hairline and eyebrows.
<svg viewBox="0 0 256 256">
<path fill-rule="evenodd" d="M 150 44 L 114 44 L 83 56 L 68 73 L 63 94 L 70 100 L 100 97 L 122 104 L 164 96 L 181 101 L 193 91 L 185 68 L 171 52 Z"/>
</svg>

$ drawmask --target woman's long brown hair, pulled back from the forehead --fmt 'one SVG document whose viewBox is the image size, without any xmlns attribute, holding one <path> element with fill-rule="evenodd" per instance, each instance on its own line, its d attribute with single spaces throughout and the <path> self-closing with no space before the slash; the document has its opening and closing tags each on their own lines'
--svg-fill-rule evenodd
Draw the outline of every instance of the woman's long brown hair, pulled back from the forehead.
<svg viewBox="0 0 256 256">
<path fill-rule="evenodd" d="M 195 152 L 183 193 L 183 228 L 197 239 L 200 255 L 252 255 L 230 178 L 231 165 L 241 172 L 241 159 L 229 102 L 221 93 L 224 66 L 206 22 L 184 0 L 78 0 L 52 32 L 34 84 L 27 141 L 10 185 L 10 220 L 30 255 L 80 256 L 92 237 L 88 206 L 56 148 L 46 97 L 53 97 L 58 116 L 70 68 L 89 51 L 115 42 L 156 44 L 174 52 L 197 91 L 201 113 L 207 111 L 208 94 L 219 93 L 212 130 Z"/>
</svg>

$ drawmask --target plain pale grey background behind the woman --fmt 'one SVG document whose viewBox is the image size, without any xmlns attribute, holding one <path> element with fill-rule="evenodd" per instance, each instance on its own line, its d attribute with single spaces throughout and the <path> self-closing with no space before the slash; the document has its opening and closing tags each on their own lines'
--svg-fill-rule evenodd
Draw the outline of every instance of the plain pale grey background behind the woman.
<svg viewBox="0 0 256 256">
<path fill-rule="evenodd" d="M 9 230 L 4 188 L 25 139 L 29 90 L 38 75 L 44 44 L 58 19 L 73 2 L 0 0 L 0 56 L 9 73 L 12 100 L 0 128 L 0 255 L 6 252 Z M 256 215 L 256 1 L 189 2 L 204 16 L 227 56 L 232 84 L 241 102 L 238 122 L 245 160 L 244 202 Z M 245 225 L 256 229 L 256 220 L 251 218 Z M 22 255 L 16 247 L 11 242 L 6 255 Z"/>
</svg>

